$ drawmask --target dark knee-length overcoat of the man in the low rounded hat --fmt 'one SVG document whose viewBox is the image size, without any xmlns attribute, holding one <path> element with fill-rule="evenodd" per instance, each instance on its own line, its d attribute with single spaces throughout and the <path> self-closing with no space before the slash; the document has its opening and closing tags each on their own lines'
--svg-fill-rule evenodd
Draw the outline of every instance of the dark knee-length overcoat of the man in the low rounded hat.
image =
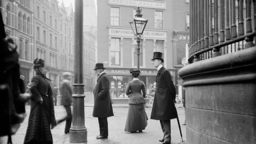
<svg viewBox="0 0 256 144">
<path fill-rule="evenodd" d="M 93 117 L 111 117 L 114 116 L 111 99 L 109 95 L 109 77 L 103 73 L 97 79 L 94 89 L 94 107 Z"/>
</svg>

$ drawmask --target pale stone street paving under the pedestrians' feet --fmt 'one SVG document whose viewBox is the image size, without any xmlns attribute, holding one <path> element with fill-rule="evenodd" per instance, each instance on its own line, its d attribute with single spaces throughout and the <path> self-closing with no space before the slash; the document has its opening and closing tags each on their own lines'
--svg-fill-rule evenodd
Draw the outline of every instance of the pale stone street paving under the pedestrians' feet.
<svg viewBox="0 0 256 144">
<path fill-rule="evenodd" d="M 89 96 L 92 97 L 92 96 Z M 88 144 L 160 144 L 158 141 L 163 137 L 163 132 L 161 130 L 161 125 L 159 121 L 150 119 L 151 108 L 146 107 L 145 111 L 147 117 L 149 117 L 148 125 L 143 133 L 126 133 L 125 122 L 127 119 L 128 105 L 126 104 L 113 104 L 114 117 L 108 118 L 109 124 L 109 137 L 108 139 L 96 139 L 95 136 L 99 135 L 99 123 L 97 118 L 92 116 L 93 113 L 93 101 L 88 101 L 88 97 L 85 97 L 85 127 L 87 128 L 87 142 Z M 90 98 L 91 99 L 91 98 Z M 30 106 L 26 106 L 27 117 L 21 127 L 12 136 L 13 144 L 23 143 L 25 138 L 25 133 L 27 130 L 27 122 L 29 119 Z M 177 112 L 179 115 L 180 123 L 185 121 L 185 110 L 180 105 L 177 105 Z M 65 109 L 63 106 L 55 106 L 55 117 L 56 119 L 61 119 L 65 117 Z M 69 134 L 64 134 L 65 122 L 57 125 L 51 132 L 53 135 L 54 144 L 70 144 L 69 143 Z M 185 125 L 181 125 L 181 131 L 183 134 L 183 141 L 186 140 L 186 129 Z M 0 137 L 0 143 L 7 143 L 7 137 Z M 177 124 L 177 119 L 171 120 L 171 143 L 185 143 L 181 141 L 181 135 L 179 133 L 179 127 Z"/>
</svg>

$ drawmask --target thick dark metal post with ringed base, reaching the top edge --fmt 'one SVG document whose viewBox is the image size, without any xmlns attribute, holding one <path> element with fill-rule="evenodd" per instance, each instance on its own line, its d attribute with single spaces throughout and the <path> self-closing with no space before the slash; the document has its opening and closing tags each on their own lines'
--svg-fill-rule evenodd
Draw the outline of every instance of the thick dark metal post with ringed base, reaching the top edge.
<svg viewBox="0 0 256 144">
<path fill-rule="evenodd" d="M 75 1 L 75 79 L 73 84 L 73 119 L 69 130 L 70 143 L 87 142 L 83 93 L 83 1 Z"/>
</svg>

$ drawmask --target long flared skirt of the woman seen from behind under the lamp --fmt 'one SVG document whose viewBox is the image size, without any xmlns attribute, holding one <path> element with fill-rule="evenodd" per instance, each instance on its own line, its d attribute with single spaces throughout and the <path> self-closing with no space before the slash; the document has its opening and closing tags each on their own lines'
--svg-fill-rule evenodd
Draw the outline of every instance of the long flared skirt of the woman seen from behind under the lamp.
<svg viewBox="0 0 256 144">
<path fill-rule="evenodd" d="M 145 105 L 129 104 L 128 115 L 125 125 L 125 131 L 141 131 L 147 127 L 147 114 L 145 112 Z"/>
</svg>

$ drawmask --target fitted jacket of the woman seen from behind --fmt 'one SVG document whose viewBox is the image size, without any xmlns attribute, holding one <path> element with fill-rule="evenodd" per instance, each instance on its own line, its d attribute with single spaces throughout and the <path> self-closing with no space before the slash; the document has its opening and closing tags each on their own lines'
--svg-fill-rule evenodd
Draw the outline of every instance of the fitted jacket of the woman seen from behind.
<svg viewBox="0 0 256 144">
<path fill-rule="evenodd" d="M 141 95 L 141 91 L 143 95 Z M 126 87 L 125 94 L 130 98 L 128 102 L 129 104 L 145 103 L 144 98 L 146 96 L 146 91 L 143 81 L 134 80 L 129 82 Z"/>
</svg>

